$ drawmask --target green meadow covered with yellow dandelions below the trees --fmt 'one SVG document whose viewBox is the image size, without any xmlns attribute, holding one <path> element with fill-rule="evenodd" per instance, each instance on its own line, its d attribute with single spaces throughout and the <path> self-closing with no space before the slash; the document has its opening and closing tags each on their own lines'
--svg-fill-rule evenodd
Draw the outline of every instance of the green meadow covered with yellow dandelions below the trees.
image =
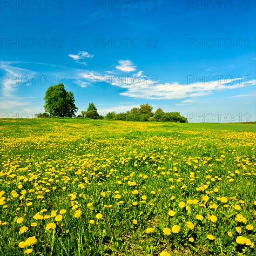
<svg viewBox="0 0 256 256">
<path fill-rule="evenodd" d="M 255 255 L 256 124 L 1 120 L 0 255 Z"/>
</svg>

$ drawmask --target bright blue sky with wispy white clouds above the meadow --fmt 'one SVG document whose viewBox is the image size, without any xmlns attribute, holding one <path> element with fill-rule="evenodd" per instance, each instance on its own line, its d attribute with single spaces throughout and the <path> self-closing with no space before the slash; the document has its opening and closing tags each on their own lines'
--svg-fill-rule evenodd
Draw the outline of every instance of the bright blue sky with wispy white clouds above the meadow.
<svg viewBox="0 0 256 256">
<path fill-rule="evenodd" d="M 77 114 L 148 102 L 191 122 L 255 121 L 256 1 L 217 2 L 2 1 L 1 116 L 44 112 L 62 82 Z"/>
</svg>

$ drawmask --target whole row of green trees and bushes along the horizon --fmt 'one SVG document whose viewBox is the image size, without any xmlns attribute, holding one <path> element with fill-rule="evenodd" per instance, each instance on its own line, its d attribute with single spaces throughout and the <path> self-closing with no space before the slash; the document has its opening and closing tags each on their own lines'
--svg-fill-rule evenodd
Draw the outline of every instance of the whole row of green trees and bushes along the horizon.
<svg viewBox="0 0 256 256">
<path fill-rule="evenodd" d="M 86 117 L 91 119 L 108 119 L 121 121 L 160 121 L 160 122 L 188 122 L 180 112 L 163 112 L 158 108 L 155 113 L 148 103 L 141 104 L 140 108 L 134 107 L 126 113 L 108 112 L 106 116 L 100 115 L 94 103 L 89 103 L 87 111 L 81 111 L 81 115 L 75 115 L 78 108 L 74 104 L 74 94 L 67 92 L 63 84 L 57 84 L 47 89 L 45 97 L 46 113 L 37 114 L 37 117 Z"/>
</svg>

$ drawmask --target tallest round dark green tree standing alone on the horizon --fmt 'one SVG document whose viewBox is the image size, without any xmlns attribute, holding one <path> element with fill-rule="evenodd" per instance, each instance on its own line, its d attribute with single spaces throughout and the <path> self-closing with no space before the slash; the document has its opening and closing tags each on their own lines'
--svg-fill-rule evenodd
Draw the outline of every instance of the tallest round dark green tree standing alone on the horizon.
<svg viewBox="0 0 256 256">
<path fill-rule="evenodd" d="M 67 92 L 64 84 L 50 86 L 45 93 L 45 111 L 50 116 L 73 117 L 78 108 L 74 104 L 74 94 Z"/>
</svg>

